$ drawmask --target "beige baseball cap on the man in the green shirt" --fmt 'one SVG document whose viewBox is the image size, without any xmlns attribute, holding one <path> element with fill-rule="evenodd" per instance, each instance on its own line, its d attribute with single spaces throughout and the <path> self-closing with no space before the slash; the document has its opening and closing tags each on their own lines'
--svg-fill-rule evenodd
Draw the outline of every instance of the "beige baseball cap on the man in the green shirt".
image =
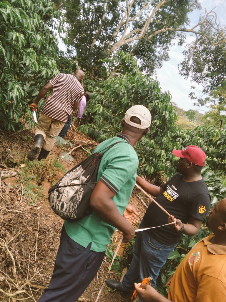
<svg viewBox="0 0 226 302">
<path fill-rule="evenodd" d="M 141 120 L 141 124 L 136 124 L 130 121 L 130 118 L 132 116 L 136 116 Z M 152 116 L 150 111 L 148 110 L 148 108 L 146 108 L 144 105 L 135 105 L 130 107 L 127 111 L 126 111 L 126 115 L 125 115 L 125 122 L 130 125 L 133 126 L 135 128 L 139 128 L 139 129 L 147 129 L 152 121 Z"/>
</svg>

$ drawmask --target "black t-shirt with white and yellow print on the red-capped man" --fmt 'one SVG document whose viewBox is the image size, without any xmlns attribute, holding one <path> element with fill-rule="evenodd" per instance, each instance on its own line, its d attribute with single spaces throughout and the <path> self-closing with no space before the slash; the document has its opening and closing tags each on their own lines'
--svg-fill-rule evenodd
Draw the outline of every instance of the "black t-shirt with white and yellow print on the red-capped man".
<svg viewBox="0 0 226 302">
<path fill-rule="evenodd" d="M 210 207 L 210 194 L 203 179 L 196 182 L 185 182 L 184 175 L 177 173 L 165 185 L 164 192 L 155 200 L 171 215 L 187 223 L 189 217 L 204 221 Z M 143 227 L 166 224 L 168 215 L 154 202 L 146 210 Z M 147 230 L 155 240 L 173 245 L 180 240 L 181 232 L 174 232 L 171 226 L 162 226 Z"/>
</svg>

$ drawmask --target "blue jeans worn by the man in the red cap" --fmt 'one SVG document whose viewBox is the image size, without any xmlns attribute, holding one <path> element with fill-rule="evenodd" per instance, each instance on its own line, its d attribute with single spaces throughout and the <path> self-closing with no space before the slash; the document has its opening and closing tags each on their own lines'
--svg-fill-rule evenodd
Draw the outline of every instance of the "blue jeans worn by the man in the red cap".
<svg viewBox="0 0 226 302">
<path fill-rule="evenodd" d="M 164 245 L 156 241 L 148 231 L 138 232 L 133 246 L 133 259 L 123 278 L 122 288 L 130 290 L 137 279 L 141 282 L 149 276 L 153 279 L 152 287 L 155 287 L 160 269 L 176 246 L 177 244 Z"/>
</svg>

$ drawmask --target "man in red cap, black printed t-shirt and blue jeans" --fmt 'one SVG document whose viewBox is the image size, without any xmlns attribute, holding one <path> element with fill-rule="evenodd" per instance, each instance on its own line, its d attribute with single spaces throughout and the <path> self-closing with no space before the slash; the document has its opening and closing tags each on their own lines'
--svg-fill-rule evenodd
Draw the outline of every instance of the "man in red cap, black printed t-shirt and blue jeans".
<svg viewBox="0 0 226 302">
<path fill-rule="evenodd" d="M 137 183 L 172 216 L 176 217 L 173 225 L 162 226 L 137 233 L 133 247 L 133 260 L 123 281 L 107 279 L 109 287 L 127 292 L 133 288 L 137 279 L 140 281 L 152 277 L 155 287 L 159 271 L 165 264 L 171 251 L 177 246 L 182 233 L 194 236 L 204 221 L 210 207 L 210 194 L 202 179 L 201 169 L 206 165 L 206 154 L 198 146 L 187 146 L 182 151 L 173 150 L 180 157 L 177 174 L 161 188 L 146 182 L 137 176 Z M 168 215 L 154 202 L 146 210 L 141 222 L 142 228 L 167 224 Z"/>
</svg>

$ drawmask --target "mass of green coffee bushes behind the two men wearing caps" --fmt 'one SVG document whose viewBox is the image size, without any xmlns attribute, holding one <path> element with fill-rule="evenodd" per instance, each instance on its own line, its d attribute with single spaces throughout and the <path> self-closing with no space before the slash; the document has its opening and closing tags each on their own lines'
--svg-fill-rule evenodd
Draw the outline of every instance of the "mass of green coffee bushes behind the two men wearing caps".
<svg viewBox="0 0 226 302">
<path fill-rule="evenodd" d="M 207 155 L 202 177 L 211 194 L 211 207 L 224 198 L 226 128 L 221 131 L 212 126 L 181 129 L 175 124 L 177 115 L 170 102 L 170 94 L 162 92 L 159 83 L 140 72 L 136 60 L 122 51 L 103 61 L 102 74 L 105 79 L 85 81 L 84 85 L 93 94 L 87 103 L 86 122 L 79 127 L 80 131 L 98 141 L 106 140 L 121 131 L 121 119 L 130 106 L 143 104 L 152 114 L 152 123 L 149 133 L 135 146 L 139 158 L 137 173 L 160 185 L 176 173 L 178 158 L 173 156 L 172 150 L 197 145 Z M 165 283 L 180 261 L 196 242 L 208 234 L 209 230 L 203 224 L 195 236 L 182 235 L 159 274 L 157 288 L 162 294 L 166 294 Z M 129 258 L 131 247 L 130 252 L 126 252 Z"/>
</svg>

